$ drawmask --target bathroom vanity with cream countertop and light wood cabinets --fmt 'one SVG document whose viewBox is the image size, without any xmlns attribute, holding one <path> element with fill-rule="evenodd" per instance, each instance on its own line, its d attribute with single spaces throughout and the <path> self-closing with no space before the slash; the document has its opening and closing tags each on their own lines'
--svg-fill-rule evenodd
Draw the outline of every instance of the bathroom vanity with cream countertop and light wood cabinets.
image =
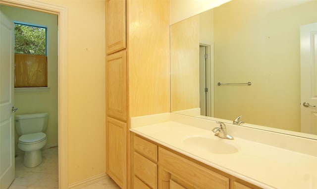
<svg viewBox="0 0 317 189">
<path fill-rule="evenodd" d="M 134 189 L 314 189 L 317 142 L 173 113 L 131 119 Z M 261 137 L 256 137 L 261 136 Z M 298 144 L 301 145 L 298 145 Z"/>
</svg>

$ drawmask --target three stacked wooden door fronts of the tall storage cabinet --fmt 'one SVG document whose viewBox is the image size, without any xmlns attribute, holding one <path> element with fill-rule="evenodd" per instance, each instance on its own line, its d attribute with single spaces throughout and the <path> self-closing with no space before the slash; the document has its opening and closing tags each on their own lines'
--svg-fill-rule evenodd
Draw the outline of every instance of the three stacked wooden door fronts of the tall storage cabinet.
<svg viewBox="0 0 317 189">
<path fill-rule="evenodd" d="M 126 1 L 106 0 L 106 173 L 127 189 Z"/>
</svg>

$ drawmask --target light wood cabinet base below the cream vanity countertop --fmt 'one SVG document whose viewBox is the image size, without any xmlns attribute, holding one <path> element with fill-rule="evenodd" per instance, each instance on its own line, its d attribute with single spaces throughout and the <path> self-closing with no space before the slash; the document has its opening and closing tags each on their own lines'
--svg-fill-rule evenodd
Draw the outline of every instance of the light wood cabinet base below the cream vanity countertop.
<svg viewBox="0 0 317 189">
<path fill-rule="evenodd" d="M 261 189 L 132 134 L 133 189 Z"/>
</svg>

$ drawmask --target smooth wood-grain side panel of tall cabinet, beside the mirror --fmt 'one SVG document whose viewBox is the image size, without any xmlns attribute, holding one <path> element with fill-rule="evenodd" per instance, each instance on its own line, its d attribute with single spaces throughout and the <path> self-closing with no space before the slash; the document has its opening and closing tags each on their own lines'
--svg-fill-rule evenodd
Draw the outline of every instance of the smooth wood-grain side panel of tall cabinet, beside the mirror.
<svg viewBox="0 0 317 189">
<path fill-rule="evenodd" d="M 127 1 L 130 116 L 169 112 L 169 1 Z"/>
</svg>

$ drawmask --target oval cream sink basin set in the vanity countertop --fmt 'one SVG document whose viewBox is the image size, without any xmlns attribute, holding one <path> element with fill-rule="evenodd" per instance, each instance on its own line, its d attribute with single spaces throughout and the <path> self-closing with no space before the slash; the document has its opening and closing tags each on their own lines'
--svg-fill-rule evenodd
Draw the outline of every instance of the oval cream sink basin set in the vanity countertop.
<svg viewBox="0 0 317 189">
<path fill-rule="evenodd" d="M 232 154 L 238 152 L 238 148 L 230 144 L 232 140 L 219 138 L 217 136 L 190 135 L 183 143 L 187 146 L 206 150 L 214 154 Z"/>
</svg>

